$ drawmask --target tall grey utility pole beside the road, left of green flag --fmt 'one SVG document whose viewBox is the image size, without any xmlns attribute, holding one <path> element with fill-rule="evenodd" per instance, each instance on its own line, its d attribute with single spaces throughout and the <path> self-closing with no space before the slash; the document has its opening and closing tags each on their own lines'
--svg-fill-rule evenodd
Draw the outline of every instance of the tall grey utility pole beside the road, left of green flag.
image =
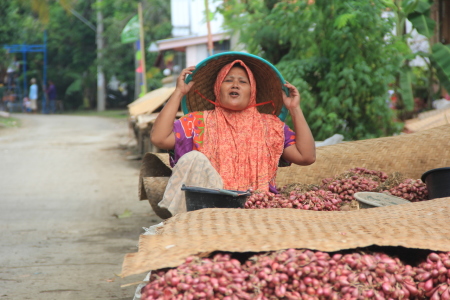
<svg viewBox="0 0 450 300">
<path fill-rule="evenodd" d="M 105 110 L 105 74 L 103 73 L 103 14 L 102 0 L 97 0 L 97 111 Z"/>
</svg>

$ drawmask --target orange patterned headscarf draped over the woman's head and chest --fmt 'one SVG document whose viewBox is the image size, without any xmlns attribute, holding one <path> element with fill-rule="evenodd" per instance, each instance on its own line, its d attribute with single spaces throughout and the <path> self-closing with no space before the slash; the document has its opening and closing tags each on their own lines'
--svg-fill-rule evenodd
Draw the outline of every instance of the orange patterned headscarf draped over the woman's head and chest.
<svg viewBox="0 0 450 300">
<path fill-rule="evenodd" d="M 250 103 L 241 111 L 231 111 L 220 105 L 220 87 L 235 64 L 245 68 L 250 81 Z M 269 190 L 269 184 L 275 185 L 278 161 L 284 149 L 284 123 L 275 115 L 258 112 L 256 81 L 241 60 L 220 70 L 214 93 L 216 108 L 204 113 L 205 136 L 199 151 L 221 175 L 224 188 Z"/>
</svg>

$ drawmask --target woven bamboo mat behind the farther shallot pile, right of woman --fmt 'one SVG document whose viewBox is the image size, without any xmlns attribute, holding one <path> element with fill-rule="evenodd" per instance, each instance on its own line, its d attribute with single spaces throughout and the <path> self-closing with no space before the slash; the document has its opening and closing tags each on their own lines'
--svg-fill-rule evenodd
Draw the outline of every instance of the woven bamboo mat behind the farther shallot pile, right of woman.
<svg viewBox="0 0 450 300">
<path fill-rule="evenodd" d="M 317 184 L 320 180 L 363 167 L 400 172 L 419 179 L 428 170 L 450 166 L 450 125 L 403 134 L 320 147 L 310 166 L 279 168 L 277 185 Z"/>
</svg>

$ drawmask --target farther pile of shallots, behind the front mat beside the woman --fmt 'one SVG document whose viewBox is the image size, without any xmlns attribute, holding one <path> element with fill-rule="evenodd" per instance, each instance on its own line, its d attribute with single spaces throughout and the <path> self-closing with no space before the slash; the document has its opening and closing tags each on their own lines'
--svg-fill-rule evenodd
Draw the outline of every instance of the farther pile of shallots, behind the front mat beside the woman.
<svg viewBox="0 0 450 300">
<path fill-rule="evenodd" d="M 323 179 L 321 185 L 293 184 L 283 187 L 281 194 L 256 191 L 244 207 L 336 211 L 355 201 L 357 192 L 382 192 L 411 202 L 428 198 L 427 187 L 420 179 L 403 179 L 398 173 L 388 176 L 381 171 L 354 168 L 335 178 Z"/>
</svg>

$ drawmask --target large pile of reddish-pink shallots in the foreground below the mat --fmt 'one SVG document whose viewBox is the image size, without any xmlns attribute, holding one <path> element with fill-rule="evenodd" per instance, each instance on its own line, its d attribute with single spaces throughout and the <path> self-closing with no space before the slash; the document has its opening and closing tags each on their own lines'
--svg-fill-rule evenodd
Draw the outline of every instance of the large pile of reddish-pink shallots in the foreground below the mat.
<svg viewBox="0 0 450 300">
<path fill-rule="evenodd" d="M 219 253 L 153 272 L 141 300 L 450 299 L 450 252 L 417 266 L 377 252 L 328 254 L 288 249 L 245 262 Z"/>
</svg>

